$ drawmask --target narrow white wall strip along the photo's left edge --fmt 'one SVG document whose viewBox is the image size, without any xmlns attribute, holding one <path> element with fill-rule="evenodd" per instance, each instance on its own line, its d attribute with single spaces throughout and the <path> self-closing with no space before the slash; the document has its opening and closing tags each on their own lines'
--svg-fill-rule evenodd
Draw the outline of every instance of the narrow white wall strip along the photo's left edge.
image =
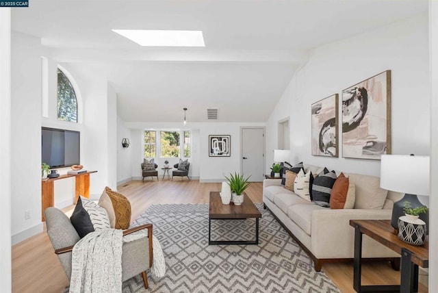
<svg viewBox="0 0 438 293">
<path fill-rule="evenodd" d="M 12 292 L 11 274 L 11 10 L 0 9 L 0 283 Z"/>
</svg>

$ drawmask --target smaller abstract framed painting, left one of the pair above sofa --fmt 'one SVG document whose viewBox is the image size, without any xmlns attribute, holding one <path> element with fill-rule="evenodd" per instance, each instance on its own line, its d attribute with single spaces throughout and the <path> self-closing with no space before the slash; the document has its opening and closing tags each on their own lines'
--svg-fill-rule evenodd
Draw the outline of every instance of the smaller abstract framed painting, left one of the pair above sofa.
<svg viewBox="0 0 438 293">
<path fill-rule="evenodd" d="M 338 157 L 338 94 L 312 104 L 312 155 Z"/>
</svg>

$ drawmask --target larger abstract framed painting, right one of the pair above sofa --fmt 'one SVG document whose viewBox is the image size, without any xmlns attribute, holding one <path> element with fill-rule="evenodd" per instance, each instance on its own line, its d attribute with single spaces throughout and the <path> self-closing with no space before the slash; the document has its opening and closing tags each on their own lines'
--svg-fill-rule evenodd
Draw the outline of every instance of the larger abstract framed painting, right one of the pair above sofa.
<svg viewBox="0 0 438 293">
<path fill-rule="evenodd" d="M 390 153 L 391 71 L 384 71 L 342 91 L 342 157 Z"/>
</svg>

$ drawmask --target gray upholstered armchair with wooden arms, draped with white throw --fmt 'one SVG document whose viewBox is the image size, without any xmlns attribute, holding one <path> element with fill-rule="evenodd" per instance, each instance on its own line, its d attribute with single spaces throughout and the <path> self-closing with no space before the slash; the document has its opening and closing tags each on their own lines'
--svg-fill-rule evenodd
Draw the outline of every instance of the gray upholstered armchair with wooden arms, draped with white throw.
<svg viewBox="0 0 438 293">
<path fill-rule="evenodd" d="M 48 207 L 44 211 L 46 218 L 47 234 L 61 266 L 66 272 L 68 280 L 71 277 L 72 250 L 76 242 L 80 240 L 79 235 L 73 227 L 70 219 L 60 209 Z M 140 238 L 132 242 L 123 243 L 122 246 L 122 281 L 131 279 L 141 274 L 144 288 L 149 288 L 146 270 L 152 266 L 152 224 L 141 225 L 123 231 L 123 235 L 148 229 L 148 238 Z"/>
</svg>

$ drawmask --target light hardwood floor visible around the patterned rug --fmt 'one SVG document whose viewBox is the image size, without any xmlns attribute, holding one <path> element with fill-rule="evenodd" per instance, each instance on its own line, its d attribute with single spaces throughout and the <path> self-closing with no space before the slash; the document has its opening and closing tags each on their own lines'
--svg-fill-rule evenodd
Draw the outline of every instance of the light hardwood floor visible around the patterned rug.
<svg viewBox="0 0 438 293">
<path fill-rule="evenodd" d="M 220 191 L 220 183 L 199 183 L 187 179 L 181 181 L 130 181 L 118 186 L 131 202 L 132 216 L 136 219 L 153 204 L 208 203 L 210 191 Z M 262 183 L 253 183 L 246 193 L 254 203 L 262 202 Z M 64 209 L 71 214 L 74 206 Z M 352 262 L 324 264 L 322 270 L 333 280 L 342 292 L 352 289 Z M 394 284 L 400 280 L 400 273 L 391 269 L 389 263 L 373 263 L 363 266 L 362 283 Z M 47 233 L 38 235 L 12 246 L 12 292 L 61 292 L 68 279 L 60 266 Z M 420 284 L 420 292 L 428 292 Z"/>
</svg>

